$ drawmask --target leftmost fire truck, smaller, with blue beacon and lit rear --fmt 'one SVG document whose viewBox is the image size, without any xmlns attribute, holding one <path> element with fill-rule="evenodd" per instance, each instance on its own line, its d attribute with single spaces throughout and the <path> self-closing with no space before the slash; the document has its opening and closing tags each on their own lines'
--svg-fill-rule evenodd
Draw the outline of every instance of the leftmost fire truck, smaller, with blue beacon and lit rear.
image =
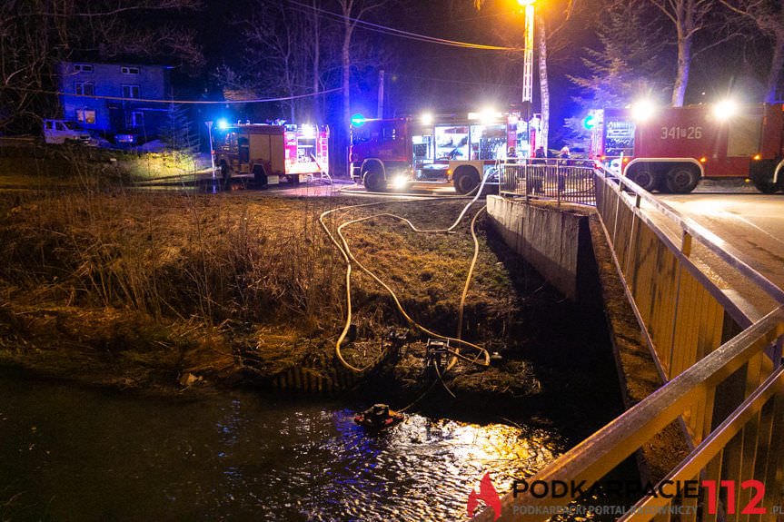
<svg viewBox="0 0 784 522">
<path fill-rule="evenodd" d="M 245 123 L 214 133 L 215 165 L 223 180 L 253 177 L 258 186 L 306 182 L 329 174 L 327 126 Z"/>
</svg>

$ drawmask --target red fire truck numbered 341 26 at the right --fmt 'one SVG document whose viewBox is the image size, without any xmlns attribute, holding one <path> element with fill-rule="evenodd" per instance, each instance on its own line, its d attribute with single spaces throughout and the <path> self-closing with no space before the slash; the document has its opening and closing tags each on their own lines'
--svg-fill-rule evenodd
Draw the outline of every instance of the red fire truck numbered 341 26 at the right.
<svg viewBox="0 0 784 522">
<path fill-rule="evenodd" d="M 766 193 L 784 189 L 781 103 L 700 104 L 596 111 L 591 157 L 642 188 L 691 192 L 700 178 L 745 178 Z"/>
</svg>

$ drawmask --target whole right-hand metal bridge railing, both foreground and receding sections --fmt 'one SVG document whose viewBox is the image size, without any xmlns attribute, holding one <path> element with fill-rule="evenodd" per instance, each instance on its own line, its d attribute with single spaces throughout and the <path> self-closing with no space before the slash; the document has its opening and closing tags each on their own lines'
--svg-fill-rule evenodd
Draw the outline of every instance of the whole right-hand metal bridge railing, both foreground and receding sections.
<svg viewBox="0 0 784 522">
<path fill-rule="evenodd" d="M 596 172 L 595 182 L 597 211 L 613 261 L 666 384 L 528 484 L 584 481 L 582 488 L 590 488 L 680 419 L 693 449 L 654 489 L 696 480 L 696 493 L 643 496 L 622 520 L 756 522 L 782 517 L 784 306 L 752 324 L 690 260 L 692 241 L 779 303 L 784 303 L 784 291 L 741 261 L 731 245 L 634 182 L 604 170 Z M 680 230 L 680 241 L 670 239 L 651 218 L 655 212 Z M 554 513 L 552 507 L 571 501 L 570 496 L 534 497 L 531 490 L 516 498 L 510 493 L 502 498 L 501 520 L 545 520 Z M 677 515 L 670 517 L 673 508 Z M 476 519 L 492 520 L 494 513 L 485 509 Z"/>
</svg>

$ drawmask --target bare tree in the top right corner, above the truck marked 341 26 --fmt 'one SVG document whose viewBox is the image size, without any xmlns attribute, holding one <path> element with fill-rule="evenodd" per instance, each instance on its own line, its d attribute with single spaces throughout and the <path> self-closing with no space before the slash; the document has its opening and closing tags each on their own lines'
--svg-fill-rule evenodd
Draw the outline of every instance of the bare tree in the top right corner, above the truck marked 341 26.
<svg viewBox="0 0 784 522">
<path fill-rule="evenodd" d="M 765 101 L 776 101 L 776 91 L 784 71 L 784 5 L 773 0 L 720 0 L 721 4 L 755 25 L 772 41 L 773 55 L 770 59 L 768 85 Z"/>
</svg>

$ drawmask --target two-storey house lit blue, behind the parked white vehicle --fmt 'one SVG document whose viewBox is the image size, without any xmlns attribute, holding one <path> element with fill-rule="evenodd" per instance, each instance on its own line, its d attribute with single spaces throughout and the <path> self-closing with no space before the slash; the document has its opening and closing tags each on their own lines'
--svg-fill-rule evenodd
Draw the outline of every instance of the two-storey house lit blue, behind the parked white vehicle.
<svg viewBox="0 0 784 522">
<path fill-rule="evenodd" d="M 61 62 L 57 81 L 63 117 L 115 143 L 154 140 L 166 123 L 169 105 L 144 100 L 172 98 L 169 69 L 161 65 Z"/>
</svg>

